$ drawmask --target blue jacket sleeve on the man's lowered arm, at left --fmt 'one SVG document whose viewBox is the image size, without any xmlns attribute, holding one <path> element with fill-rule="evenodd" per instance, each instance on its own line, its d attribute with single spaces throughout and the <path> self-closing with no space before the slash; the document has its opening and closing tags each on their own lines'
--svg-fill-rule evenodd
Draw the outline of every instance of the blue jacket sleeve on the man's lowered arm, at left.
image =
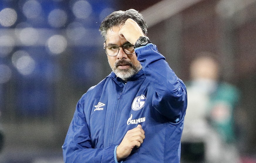
<svg viewBox="0 0 256 163">
<path fill-rule="evenodd" d="M 77 103 L 74 117 L 62 146 L 64 162 L 115 162 L 115 145 L 97 149 L 92 147 L 90 130 L 86 122 L 82 101 L 80 99 Z"/>
</svg>

